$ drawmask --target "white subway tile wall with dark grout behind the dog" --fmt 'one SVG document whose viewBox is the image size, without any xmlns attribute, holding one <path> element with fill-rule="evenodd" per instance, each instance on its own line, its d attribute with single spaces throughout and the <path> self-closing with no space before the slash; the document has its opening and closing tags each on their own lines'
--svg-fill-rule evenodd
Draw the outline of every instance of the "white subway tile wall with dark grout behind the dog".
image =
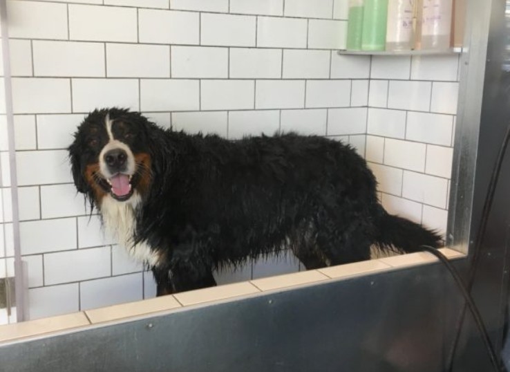
<svg viewBox="0 0 510 372">
<path fill-rule="evenodd" d="M 297 131 L 348 142 L 390 212 L 446 228 L 458 58 L 337 55 L 348 0 L 8 0 L 8 11 L 32 318 L 155 295 L 151 272 L 104 236 L 72 183 L 66 148 L 96 107 L 232 140 Z M 6 219 L 7 189 L 1 196 Z M 9 253 L 12 243 L 0 250 Z M 215 275 L 296 270 L 283 255 Z"/>
</svg>

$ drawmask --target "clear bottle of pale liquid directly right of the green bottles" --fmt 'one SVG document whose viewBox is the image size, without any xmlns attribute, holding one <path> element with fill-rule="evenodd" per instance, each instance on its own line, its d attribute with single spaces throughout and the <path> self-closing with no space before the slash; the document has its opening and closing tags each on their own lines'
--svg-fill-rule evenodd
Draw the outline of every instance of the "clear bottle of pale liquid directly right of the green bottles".
<svg viewBox="0 0 510 372">
<path fill-rule="evenodd" d="M 386 50 L 412 50 L 415 48 L 417 7 L 419 0 L 388 0 Z"/>
</svg>

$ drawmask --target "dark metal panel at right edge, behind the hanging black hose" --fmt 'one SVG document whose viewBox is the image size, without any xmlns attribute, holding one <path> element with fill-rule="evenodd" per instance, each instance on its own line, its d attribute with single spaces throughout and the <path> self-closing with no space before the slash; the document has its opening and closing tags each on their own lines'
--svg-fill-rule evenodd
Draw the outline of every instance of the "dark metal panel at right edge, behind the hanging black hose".
<svg viewBox="0 0 510 372">
<path fill-rule="evenodd" d="M 480 1 L 480 3 L 486 3 Z M 471 241 L 477 236 L 480 214 L 489 179 L 493 171 L 504 133 L 510 125 L 510 2 L 493 0 L 484 73 L 483 101 L 480 118 L 478 158 L 475 167 L 473 219 Z M 484 321 L 489 324 L 491 338 L 497 350 L 503 340 L 509 293 L 510 239 L 510 149 L 504 156 L 498 187 L 489 216 L 487 232 L 480 247 L 480 259 L 475 270 L 473 296 Z M 466 317 L 461 344 L 457 351 L 456 371 L 473 369 L 485 351 L 475 334 L 470 316 Z M 480 368 L 480 367 L 479 367 Z"/>
</svg>

